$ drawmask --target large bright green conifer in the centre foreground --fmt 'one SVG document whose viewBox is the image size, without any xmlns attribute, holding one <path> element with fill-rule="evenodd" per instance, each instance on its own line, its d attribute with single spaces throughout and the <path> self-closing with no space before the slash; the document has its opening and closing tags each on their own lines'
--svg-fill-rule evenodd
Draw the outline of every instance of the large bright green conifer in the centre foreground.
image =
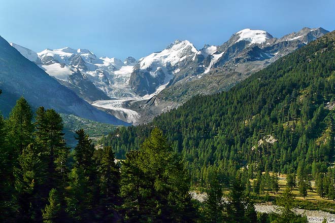
<svg viewBox="0 0 335 223">
<path fill-rule="evenodd" d="M 183 163 L 158 129 L 122 164 L 126 222 L 191 222 L 194 213 L 188 190 Z"/>
</svg>

